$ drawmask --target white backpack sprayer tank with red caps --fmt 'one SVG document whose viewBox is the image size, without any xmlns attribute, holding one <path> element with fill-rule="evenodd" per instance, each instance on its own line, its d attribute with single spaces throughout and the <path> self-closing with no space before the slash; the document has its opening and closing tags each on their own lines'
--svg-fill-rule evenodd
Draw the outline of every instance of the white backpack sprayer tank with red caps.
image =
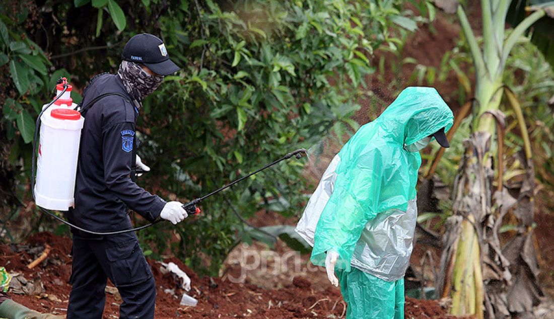
<svg viewBox="0 0 554 319">
<path fill-rule="evenodd" d="M 67 85 L 65 92 L 64 85 Z M 71 89 L 67 79 L 63 78 L 62 83 L 56 85 L 58 99 L 54 104 L 43 105 L 44 112 L 40 116 L 42 125 L 34 194 L 35 203 L 45 209 L 68 210 L 74 205 L 79 142 L 85 119 L 75 110 Z"/>
</svg>

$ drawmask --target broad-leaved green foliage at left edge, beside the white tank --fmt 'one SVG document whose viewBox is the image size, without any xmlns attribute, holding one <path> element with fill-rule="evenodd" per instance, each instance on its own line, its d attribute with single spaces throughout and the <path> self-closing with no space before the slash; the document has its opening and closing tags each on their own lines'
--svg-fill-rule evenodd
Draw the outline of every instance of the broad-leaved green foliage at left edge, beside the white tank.
<svg viewBox="0 0 554 319">
<path fill-rule="evenodd" d="M 5 13 L 0 6 L 0 81 L 3 83 L 0 146 L 6 152 L 3 158 L 7 162 L 1 166 L 5 169 L 11 165 L 20 166 L 24 172 L 29 172 L 34 122 L 44 97 L 51 91 L 45 84 L 52 80 L 48 75 L 52 63 L 24 32 L 29 11 L 20 8 L 13 15 Z M 2 176 L 5 174 L 12 173 Z M 27 180 L 23 174 L 16 174 L 13 178 L 20 182 Z M 4 185 L 13 186 L 13 182 Z M 2 198 L 2 204 L 4 209 L 14 212 L 18 200 L 13 199 L 22 198 L 24 189 L 12 187 L 9 191 L 11 194 Z"/>
</svg>

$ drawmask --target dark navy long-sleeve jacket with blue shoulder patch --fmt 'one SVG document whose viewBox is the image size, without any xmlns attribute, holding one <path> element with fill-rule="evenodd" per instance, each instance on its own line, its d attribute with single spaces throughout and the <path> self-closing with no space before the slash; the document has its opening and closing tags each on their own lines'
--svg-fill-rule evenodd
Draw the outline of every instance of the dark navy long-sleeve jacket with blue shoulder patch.
<svg viewBox="0 0 554 319">
<path fill-rule="evenodd" d="M 111 92 L 128 96 L 119 76 L 98 76 L 86 90 L 83 105 Z M 126 206 L 150 222 L 160 215 L 166 202 L 130 178 L 138 114 L 132 101 L 121 96 L 103 97 L 85 112 L 75 208 L 70 209 L 67 216 L 75 225 L 91 231 L 130 228 Z"/>
</svg>

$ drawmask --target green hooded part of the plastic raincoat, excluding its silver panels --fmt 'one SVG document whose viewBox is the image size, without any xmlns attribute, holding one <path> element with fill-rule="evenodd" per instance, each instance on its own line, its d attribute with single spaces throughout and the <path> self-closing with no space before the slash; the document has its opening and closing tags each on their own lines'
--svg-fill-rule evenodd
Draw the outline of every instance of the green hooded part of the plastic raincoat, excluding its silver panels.
<svg viewBox="0 0 554 319">
<path fill-rule="evenodd" d="M 404 145 L 442 127 L 448 131 L 453 119 L 437 90 L 411 87 L 350 138 L 338 153 L 335 186 L 317 223 L 312 263 L 324 265 L 325 252 L 334 249 L 340 256 L 337 267 L 350 270 L 367 222 L 389 209 L 406 211 L 416 198 L 421 157 Z"/>
</svg>

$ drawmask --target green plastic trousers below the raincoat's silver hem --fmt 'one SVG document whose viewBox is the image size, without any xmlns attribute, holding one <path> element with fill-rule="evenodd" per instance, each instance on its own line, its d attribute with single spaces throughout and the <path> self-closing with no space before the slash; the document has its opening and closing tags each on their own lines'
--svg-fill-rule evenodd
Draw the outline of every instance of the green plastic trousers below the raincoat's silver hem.
<svg viewBox="0 0 554 319">
<path fill-rule="evenodd" d="M 336 273 L 347 319 L 404 319 L 404 278 L 384 281 L 354 267 Z"/>
</svg>

